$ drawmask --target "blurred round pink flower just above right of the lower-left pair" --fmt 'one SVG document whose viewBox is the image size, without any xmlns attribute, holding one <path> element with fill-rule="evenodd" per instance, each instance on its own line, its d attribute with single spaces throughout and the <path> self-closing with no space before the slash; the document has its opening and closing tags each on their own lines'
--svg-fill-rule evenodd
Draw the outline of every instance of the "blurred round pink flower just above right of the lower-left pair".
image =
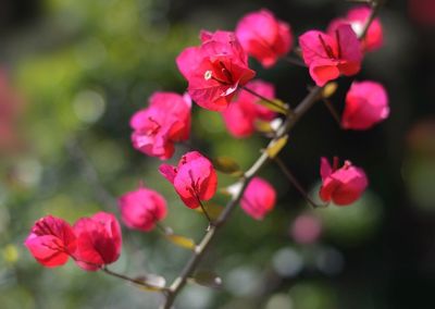
<svg viewBox="0 0 435 309">
<path fill-rule="evenodd" d="M 145 187 L 124 194 L 119 199 L 119 206 L 125 225 L 144 232 L 154 228 L 167 212 L 165 199 Z"/>
</svg>

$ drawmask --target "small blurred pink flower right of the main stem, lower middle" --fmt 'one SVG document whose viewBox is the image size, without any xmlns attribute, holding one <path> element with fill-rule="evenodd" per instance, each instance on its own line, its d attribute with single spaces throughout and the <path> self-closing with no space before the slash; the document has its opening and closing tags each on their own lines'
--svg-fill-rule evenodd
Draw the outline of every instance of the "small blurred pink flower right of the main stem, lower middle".
<svg viewBox="0 0 435 309">
<path fill-rule="evenodd" d="M 262 220 L 264 215 L 275 207 L 275 189 L 266 181 L 253 177 L 246 188 L 240 200 L 241 209 L 256 220 Z"/>
</svg>

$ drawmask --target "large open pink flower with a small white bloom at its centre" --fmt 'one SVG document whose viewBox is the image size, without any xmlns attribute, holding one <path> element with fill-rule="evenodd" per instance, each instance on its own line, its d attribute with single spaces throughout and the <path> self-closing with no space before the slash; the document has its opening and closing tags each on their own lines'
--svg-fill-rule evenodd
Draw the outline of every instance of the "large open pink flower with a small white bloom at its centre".
<svg viewBox="0 0 435 309">
<path fill-rule="evenodd" d="M 248 57 L 234 33 L 201 33 L 201 46 L 186 48 L 176 59 L 188 81 L 190 97 L 202 108 L 224 110 L 236 90 L 253 78 Z"/>
</svg>

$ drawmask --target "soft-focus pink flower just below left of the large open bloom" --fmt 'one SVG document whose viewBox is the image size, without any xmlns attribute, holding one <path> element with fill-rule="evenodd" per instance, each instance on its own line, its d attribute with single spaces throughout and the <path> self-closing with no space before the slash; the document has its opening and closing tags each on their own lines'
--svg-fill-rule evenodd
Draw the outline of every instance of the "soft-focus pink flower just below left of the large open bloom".
<svg viewBox="0 0 435 309">
<path fill-rule="evenodd" d="M 135 149 L 162 160 L 174 153 L 174 143 L 186 140 L 190 134 L 190 107 L 188 95 L 156 92 L 149 107 L 136 112 L 130 126 Z"/>
</svg>

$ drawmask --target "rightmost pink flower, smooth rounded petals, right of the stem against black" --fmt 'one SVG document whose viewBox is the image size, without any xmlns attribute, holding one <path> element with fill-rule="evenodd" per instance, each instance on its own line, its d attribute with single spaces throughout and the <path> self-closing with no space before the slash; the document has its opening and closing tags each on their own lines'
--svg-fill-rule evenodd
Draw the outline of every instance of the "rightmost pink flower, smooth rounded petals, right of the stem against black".
<svg viewBox="0 0 435 309">
<path fill-rule="evenodd" d="M 375 82 L 353 82 L 346 95 L 341 126 L 368 129 L 389 114 L 385 88 Z"/>
</svg>

